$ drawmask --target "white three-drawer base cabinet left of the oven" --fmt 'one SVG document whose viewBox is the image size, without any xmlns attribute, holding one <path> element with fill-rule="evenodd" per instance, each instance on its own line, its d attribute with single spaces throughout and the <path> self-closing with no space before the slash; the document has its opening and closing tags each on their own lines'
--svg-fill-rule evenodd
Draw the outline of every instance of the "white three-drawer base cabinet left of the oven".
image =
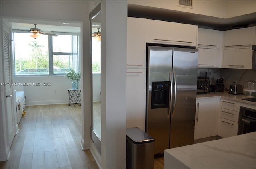
<svg viewBox="0 0 256 169">
<path fill-rule="evenodd" d="M 220 100 L 218 136 L 226 138 L 237 135 L 239 108 L 240 102 L 223 98 Z"/>
</svg>

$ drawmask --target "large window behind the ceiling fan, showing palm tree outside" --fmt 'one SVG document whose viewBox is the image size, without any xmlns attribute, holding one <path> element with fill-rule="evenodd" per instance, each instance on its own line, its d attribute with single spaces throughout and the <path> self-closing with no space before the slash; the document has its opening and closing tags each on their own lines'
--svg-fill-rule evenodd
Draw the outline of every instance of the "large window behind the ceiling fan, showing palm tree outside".
<svg viewBox="0 0 256 169">
<path fill-rule="evenodd" d="M 48 36 L 37 39 L 28 33 L 14 36 L 15 75 L 63 75 L 78 71 L 78 35 Z"/>
</svg>

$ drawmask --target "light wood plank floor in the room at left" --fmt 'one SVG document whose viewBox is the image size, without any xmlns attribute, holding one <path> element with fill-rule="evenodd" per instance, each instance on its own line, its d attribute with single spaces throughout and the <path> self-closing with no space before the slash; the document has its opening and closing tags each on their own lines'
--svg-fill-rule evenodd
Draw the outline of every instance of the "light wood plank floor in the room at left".
<svg viewBox="0 0 256 169">
<path fill-rule="evenodd" d="M 82 151 L 81 125 L 81 106 L 26 106 L 1 169 L 98 169 L 90 151 Z"/>
</svg>

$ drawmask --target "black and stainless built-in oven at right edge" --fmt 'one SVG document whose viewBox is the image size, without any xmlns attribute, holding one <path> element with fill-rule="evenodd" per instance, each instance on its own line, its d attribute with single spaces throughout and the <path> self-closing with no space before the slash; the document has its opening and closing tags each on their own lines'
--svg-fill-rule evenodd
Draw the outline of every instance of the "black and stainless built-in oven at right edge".
<svg viewBox="0 0 256 169">
<path fill-rule="evenodd" d="M 256 110 L 240 106 L 237 134 L 245 134 L 255 131 Z"/>
</svg>

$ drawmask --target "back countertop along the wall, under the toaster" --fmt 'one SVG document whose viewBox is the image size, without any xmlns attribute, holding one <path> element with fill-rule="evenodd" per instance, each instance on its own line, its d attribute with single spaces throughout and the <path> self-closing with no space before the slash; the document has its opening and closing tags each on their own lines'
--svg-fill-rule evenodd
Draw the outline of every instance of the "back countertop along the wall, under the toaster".
<svg viewBox="0 0 256 169">
<path fill-rule="evenodd" d="M 250 98 L 249 96 L 245 96 L 243 94 L 229 94 L 228 92 L 210 92 L 207 94 L 197 94 L 196 99 L 205 99 L 205 98 L 226 98 L 229 100 L 234 100 L 238 102 L 243 102 L 247 104 L 254 104 L 256 106 L 256 102 L 251 102 L 247 100 L 242 100 L 244 98 Z"/>
</svg>

